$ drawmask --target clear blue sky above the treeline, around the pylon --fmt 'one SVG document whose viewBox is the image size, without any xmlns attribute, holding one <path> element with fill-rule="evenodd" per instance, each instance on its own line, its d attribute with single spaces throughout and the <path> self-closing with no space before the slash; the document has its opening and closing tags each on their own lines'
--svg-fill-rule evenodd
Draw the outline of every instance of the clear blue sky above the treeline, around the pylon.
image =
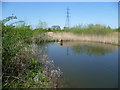
<svg viewBox="0 0 120 90">
<path fill-rule="evenodd" d="M 118 2 L 3 2 L 3 19 L 12 13 L 19 20 L 35 26 L 45 21 L 48 26 L 63 27 L 66 8 L 70 8 L 71 26 L 77 24 L 102 24 L 118 27 Z"/>
</svg>

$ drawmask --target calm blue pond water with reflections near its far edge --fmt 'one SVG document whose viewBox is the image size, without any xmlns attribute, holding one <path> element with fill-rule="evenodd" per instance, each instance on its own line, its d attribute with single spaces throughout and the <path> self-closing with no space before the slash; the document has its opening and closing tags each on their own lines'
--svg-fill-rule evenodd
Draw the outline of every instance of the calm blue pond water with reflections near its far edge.
<svg viewBox="0 0 120 90">
<path fill-rule="evenodd" d="M 49 58 L 63 72 L 64 87 L 118 87 L 118 46 L 63 42 L 50 43 L 47 47 Z"/>
</svg>

